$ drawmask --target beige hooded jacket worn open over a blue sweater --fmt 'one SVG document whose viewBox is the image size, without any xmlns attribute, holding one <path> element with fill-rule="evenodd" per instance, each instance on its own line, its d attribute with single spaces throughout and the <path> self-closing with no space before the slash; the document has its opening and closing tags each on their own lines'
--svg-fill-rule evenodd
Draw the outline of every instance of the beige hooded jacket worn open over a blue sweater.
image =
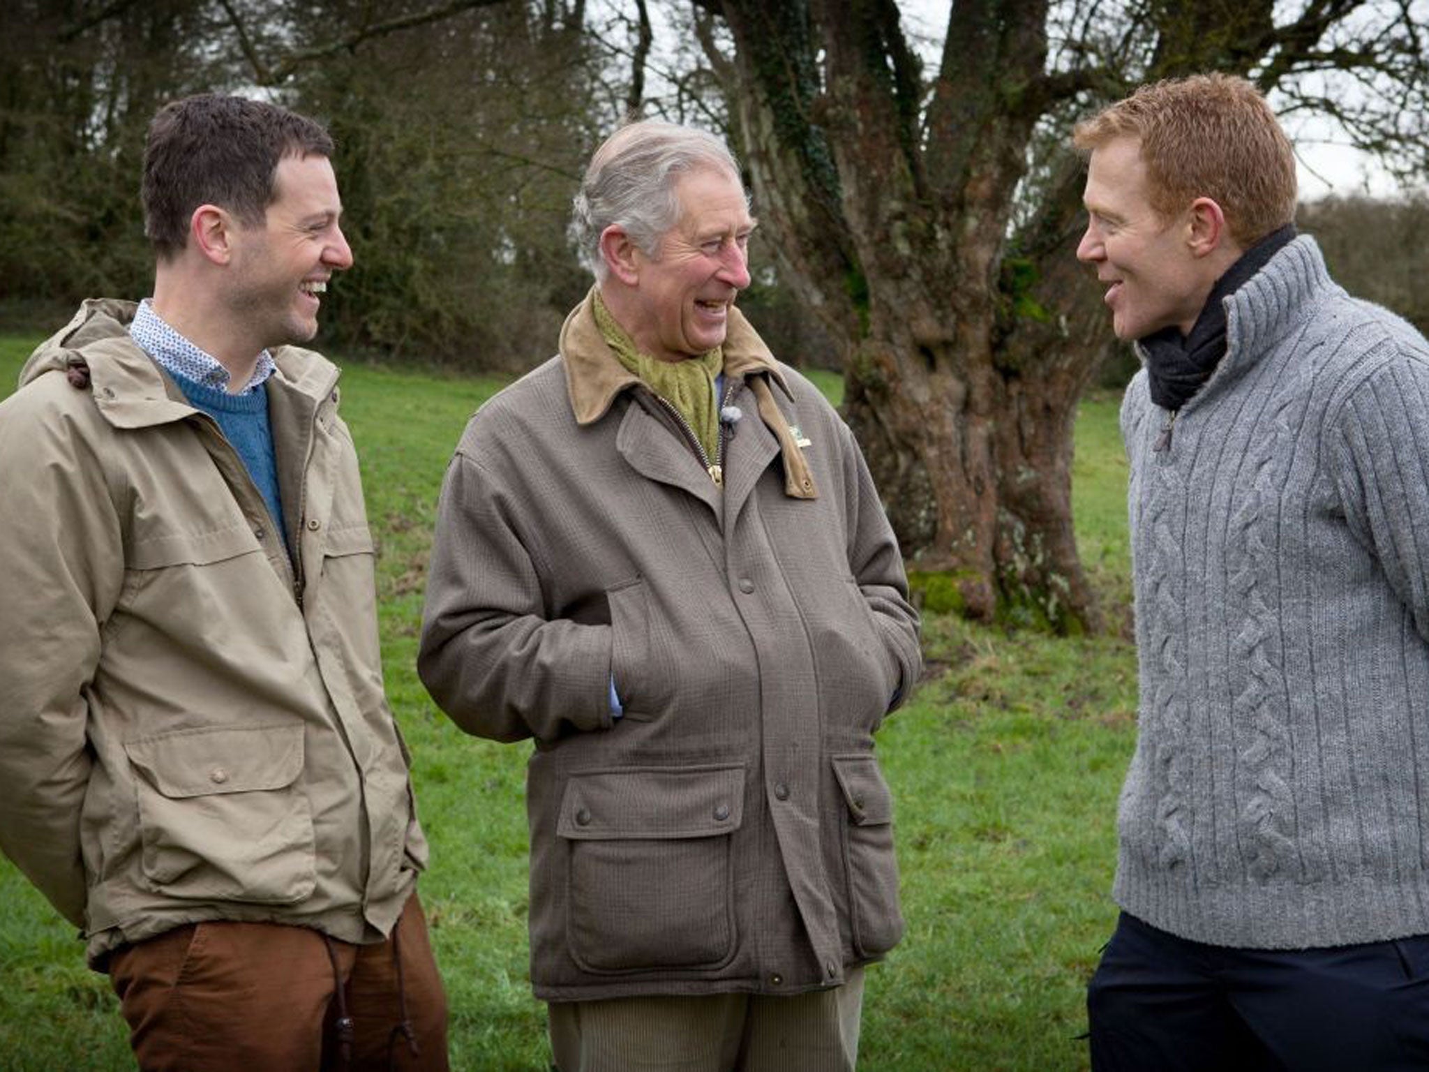
<svg viewBox="0 0 1429 1072">
<path fill-rule="evenodd" d="M 337 369 L 273 353 L 290 565 L 133 312 L 86 302 L 0 403 L 0 848 L 96 968 L 206 919 L 377 941 L 427 849 Z"/>
</svg>

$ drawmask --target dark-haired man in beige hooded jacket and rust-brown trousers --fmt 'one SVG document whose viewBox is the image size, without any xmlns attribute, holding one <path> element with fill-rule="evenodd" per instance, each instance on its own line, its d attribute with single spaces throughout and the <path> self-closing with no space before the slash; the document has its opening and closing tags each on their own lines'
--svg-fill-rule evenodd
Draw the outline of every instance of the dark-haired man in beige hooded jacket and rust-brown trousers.
<svg viewBox="0 0 1429 1072">
<path fill-rule="evenodd" d="M 153 299 L 86 302 L 0 403 L 0 848 L 146 1072 L 447 1068 L 357 459 L 290 344 L 352 264 L 332 149 L 164 107 Z"/>
</svg>

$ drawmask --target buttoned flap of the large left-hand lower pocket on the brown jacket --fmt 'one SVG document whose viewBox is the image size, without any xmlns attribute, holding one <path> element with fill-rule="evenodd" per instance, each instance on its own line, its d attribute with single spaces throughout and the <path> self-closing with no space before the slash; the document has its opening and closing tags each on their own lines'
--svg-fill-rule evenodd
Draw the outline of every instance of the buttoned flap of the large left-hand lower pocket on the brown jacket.
<svg viewBox="0 0 1429 1072">
<path fill-rule="evenodd" d="M 556 833 L 609 838 L 714 838 L 745 818 L 745 768 L 624 768 L 570 776 Z"/>
</svg>

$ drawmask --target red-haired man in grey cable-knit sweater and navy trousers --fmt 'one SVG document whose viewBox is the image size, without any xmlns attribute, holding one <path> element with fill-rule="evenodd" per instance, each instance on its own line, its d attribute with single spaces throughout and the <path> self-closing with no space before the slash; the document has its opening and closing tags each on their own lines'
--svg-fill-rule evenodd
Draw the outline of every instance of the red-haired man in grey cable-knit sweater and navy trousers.
<svg viewBox="0 0 1429 1072">
<path fill-rule="evenodd" d="M 1083 123 L 1127 387 L 1139 739 L 1097 1072 L 1429 1068 L 1429 344 L 1293 227 L 1245 80 Z"/>
</svg>

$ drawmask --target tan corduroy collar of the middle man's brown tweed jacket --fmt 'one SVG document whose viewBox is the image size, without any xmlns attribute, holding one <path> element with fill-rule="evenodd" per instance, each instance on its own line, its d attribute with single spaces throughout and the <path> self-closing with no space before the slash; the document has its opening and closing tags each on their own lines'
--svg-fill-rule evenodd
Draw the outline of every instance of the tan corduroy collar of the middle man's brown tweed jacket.
<svg viewBox="0 0 1429 1072">
<path fill-rule="evenodd" d="M 640 383 L 610 352 L 594 313 L 596 287 L 576 306 L 560 329 L 560 357 L 566 367 L 566 390 L 577 425 L 600 420 L 616 396 Z M 766 374 L 786 397 L 793 397 L 779 363 L 765 340 L 737 309 L 729 310 L 725 333 L 725 374 L 737 379 Z"/>
</svg>

